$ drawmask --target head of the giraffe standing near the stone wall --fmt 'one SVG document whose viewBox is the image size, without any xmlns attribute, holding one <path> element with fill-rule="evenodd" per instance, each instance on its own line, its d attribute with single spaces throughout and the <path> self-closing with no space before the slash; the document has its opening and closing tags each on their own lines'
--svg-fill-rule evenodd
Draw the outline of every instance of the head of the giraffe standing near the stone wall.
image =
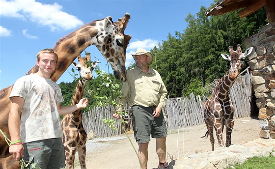
<svg viewBox="0 0 275 169">
<path fill-rule="evenodd" d="M 230 77 L 235 78 L 239 75 L 240 70 L 245 66 L 245 58 L 247 55 L 250 55 L 253 47 L 250 47 L 246 50 L 245 53 L 242 52 L 241 45 L 237 45 L 237 50 L 234 51 L 232 46 L 229 46 L 229 55 L 227 54 L 221 54 L 222 58 L 229 60 L 230 62 Z"/>
</svg>

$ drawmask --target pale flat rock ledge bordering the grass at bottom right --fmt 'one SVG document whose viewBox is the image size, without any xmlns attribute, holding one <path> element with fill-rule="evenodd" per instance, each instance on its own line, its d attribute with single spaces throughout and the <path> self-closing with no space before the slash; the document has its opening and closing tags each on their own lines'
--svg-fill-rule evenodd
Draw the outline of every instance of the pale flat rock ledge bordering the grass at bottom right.
<svg viewBox="0 0 275 169">
<path fill-rule="evenodd" d="M 177 159 L 173 169 L 226 169 L 243 164 L 251 157 L 275 156 L 274 139 L 257 139 L 244 144 L 219 147 L 212 152 L 200 151 L 183 159 Z M 233 168 L 232 168 L 233 169 Z"/>
</svg>

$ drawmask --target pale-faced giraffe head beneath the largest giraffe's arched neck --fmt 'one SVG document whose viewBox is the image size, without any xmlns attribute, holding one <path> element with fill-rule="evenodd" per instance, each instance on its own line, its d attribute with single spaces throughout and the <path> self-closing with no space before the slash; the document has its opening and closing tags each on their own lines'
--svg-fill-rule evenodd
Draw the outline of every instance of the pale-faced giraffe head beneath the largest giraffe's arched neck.
<svg viewBox="0 0 275 169">
<path fill-rule="evenodd" d="M 86 57 L 81 57 L 79 55 L 78 64 L 76 62 L 72 63 L 72 65 L 78 69 L 80 77 L 87 81 L 93 78 L 92 71 L 98 63 L 98 61 L 94 61 L 91 64 L 87 65 L 88 61 L 91 61 L 90 53 L 86 53 Z"/>
</svg>

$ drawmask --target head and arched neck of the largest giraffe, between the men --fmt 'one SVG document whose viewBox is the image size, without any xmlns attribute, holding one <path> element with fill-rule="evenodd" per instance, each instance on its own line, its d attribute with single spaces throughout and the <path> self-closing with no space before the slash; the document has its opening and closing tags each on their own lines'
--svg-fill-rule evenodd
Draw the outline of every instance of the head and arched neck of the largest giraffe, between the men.
<svg viewBox="0 0 275 169">
<path fill-rule="evenodd" d="M 100 53 L 110 63 L 117 79 L 126 81 L 126 48 L 131 36 L 125 35 L 130 14 L 126 13 L 117 22 L 112 17 L 96 20 L 60 38 L 54 46 L 58 55 L 55 72 L 51 79 L 56 82 L 71 63 L 90 45 L 95 45 Z M 34 66 L 27 74 L 36 73 Z"/>
</svg>

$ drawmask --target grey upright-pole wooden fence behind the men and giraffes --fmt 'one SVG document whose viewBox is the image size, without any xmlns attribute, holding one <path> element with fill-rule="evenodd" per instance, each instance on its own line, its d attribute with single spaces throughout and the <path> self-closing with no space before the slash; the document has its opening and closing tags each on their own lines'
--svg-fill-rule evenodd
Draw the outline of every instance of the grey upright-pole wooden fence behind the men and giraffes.
<svg viewBox="0 0 275 169">
<path fill-rule="evenodd" d="M 230 98 L 234 106 L 235 118 L 242 118 L 256 114 L 257 108 L 253 100 L 252 84 L 250 75 L 246 74 L 238 78 L 229 91 Z M 207 99 L 206 96 L 194 96 L 192 93 L 190 98 L 180 97 L 167 99 L 166 106 L 163 109 L 167 119 L 168 127 L 171 130 L 191 127 L 204 124 L 203 120 L 203 103 Z M 132 116 L 131 109 L 128 112 L 127 121 L 125 125 L 126 130 L 132 130 Z M 109 137 L 123 133 L 119 120 L 112 117 L 113 108 L 94 108 L 88 113 L 83 113 L 83 126 L 87 133 L 93 131 L 96 137 Z M 109 118 L 116 121 L 115 126 L 117 131 L 111 131 L 108 125 L 103 123 L 103 118 Z"/>
</svg>

